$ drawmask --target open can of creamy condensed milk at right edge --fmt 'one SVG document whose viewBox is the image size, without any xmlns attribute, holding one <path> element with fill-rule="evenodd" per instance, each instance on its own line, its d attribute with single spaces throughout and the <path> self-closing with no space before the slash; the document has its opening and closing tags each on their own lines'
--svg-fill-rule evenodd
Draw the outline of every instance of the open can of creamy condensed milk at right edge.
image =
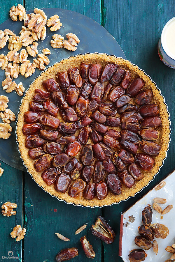
<svg viewBox="0 0 175 262">
<path fill-rule="evenodd" d="M 160 60 L 165 65 L 175 68 L 175 17 L 164 26 L 157 49 Z"/>
</svg>

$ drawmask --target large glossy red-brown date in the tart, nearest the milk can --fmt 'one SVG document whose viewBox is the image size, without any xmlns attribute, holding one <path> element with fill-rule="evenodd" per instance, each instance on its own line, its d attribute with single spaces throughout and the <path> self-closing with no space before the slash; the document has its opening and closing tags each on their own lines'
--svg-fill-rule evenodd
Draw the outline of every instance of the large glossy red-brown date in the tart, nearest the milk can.
<svg viewBox="0 0 175 262">
<path fill-rule="evenodd" d="M 127 87 L 127 95 L 129 95 L 130 97 L 136 96 L 140 92 L 144 84 L 145 82 L 140 77 L 134 78 Z"/>
</svg>

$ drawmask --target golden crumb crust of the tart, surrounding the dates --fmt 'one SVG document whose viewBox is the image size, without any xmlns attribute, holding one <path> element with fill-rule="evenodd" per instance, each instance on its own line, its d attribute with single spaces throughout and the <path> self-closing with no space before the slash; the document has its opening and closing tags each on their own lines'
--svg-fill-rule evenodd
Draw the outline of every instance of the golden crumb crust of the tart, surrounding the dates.
<svg viewBox="0 0 175 262">
<path fill-rule="evenodd" d="M 107 63 L 117 63 L 121 67 L 126 68 L 130 71 L 132 79 L 136 76 L 141 77 L 145 81 L 145 86 L 143 89 L 152 89 L 153 92 L 153 100 L 152 102 L 157 103 L 158 108 L 160 110 L 160 118 L 162 121 L 162 125 L 157 130 L 160 131 L 160 138 L 157 140 L 158 144 L 161 146 L 161 150 L 158 156 L 153 157 L 155 160 L 155 164 L 151 171 L 144 171 L 141 169 L 142 174 L 144 175 L 143 179 L 140 181 L 135 181 L 135 184 L 132 188 L 127 188 L 122 184 L 122 194 L 114 195 L 109 190 L 107 197 L 103 200 L 99 200 L 96 197 L 92 200 L 84 199 L 83 197 L 75 198 L 70 197 L 68 195 L 68 191 L 66 193 L 57 192 L 55 190 L 54 185 L 47 185 L 42 177 L 40 172 L 37 172 L 34 168 L 34 161 L 28 156 L 28 148 L 25 147 L 25 140 L 26 136 L 22 133 L 22 127 L 24 125 L 24 113 L 29 110 L 29 102 L 33 99 L 35 89 L 40 88 L 44 89 L 42 82 L 45 79 L 53 78 L 56 80 L 56 73 L 67 71 L 68 68 L 72 67 L 80 67 L 81 63 L 99 63 L 103 67 Z M 142 90 L 143 90 L 142 89 Z M 59 118 L 61 118 L 58 115 Z M 63 121 L 60 119 L 60 121 Z M 120 128 L 115 128 L 116 130 L 120 130 Z M 24 162 L 24 165 L 27 167 L 29 174 L 33 177 L 36 183 L 41 186 L 46 192 L 49 192 L 51 195 L 57 197 L 60 200 L 64 200 L 67 203 L 74 203 L 76 205 L 81 206 L 104 206 L 104 205 L 111 205 L 113 203 L 118 203 L 122 200 L 126 200 L 128 197 L 134 196 L 137 192 L 139 192 L 143 187 L 148 185 L 150 180 L 153 179 L 154 175 L 157 174 L 159 168 L 163 164 L 163 160 L 166 157 L 166 152 L 168 149 L 169 144 L 169 134 L 170 134 L 170 122 L 169 122 L 169 114 L 167 112 L 167 106 L 164 103 L 164 98 L 160 94 L 160 91 L 156 88 L 155 84 L 151 81 L 150 77 L 145 75 L 145 73 L 138 68 L 138 66 L 133 65 L 130 61 L 127 61 L 122 58 L 117 58 L 112 55 L 106 54 L 85 54 L 85 55 L 77 55 L 71 56 L 68 59 L 64 59 L 59 63 L 54 64 L 53 66 L 49 67 L 46 71 L 42 72 L 40 76 L 38 76 L 34 82 L 30 85 L 29 89 L 26 91 L 24 98 L 22 99 L 22 104 L 20 106 L 20 111 L 18 114 L 18 121 L 17 121 L 17 141 L 18 141 L 18 148 L 20 151 L 21 158 Z M 91 143 L 89 140 L 88 143 Z M 139 152 L 139 150 L 138 150 Z M 137 153 L 138 153 L 137 152 Z M 141 152 L 141 151 L 140 151 Z M 78 158 L 78 157 L 77 157 Z"/>
</svg>

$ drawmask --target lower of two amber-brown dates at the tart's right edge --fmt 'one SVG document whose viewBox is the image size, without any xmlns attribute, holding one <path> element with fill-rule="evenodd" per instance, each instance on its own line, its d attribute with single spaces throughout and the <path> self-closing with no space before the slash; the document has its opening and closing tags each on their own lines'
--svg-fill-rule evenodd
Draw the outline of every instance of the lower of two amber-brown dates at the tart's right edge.
<svg viewBox="0 0 175 262">
<path fill-rule="evenodd" d="M 139 143 L 139 147 L 143 152 L 145 152 L 148 155 L 158 155 L 161 149 L 161 147 L 158 144 L 147 140 L 142 140 Z"/>
</svg>

